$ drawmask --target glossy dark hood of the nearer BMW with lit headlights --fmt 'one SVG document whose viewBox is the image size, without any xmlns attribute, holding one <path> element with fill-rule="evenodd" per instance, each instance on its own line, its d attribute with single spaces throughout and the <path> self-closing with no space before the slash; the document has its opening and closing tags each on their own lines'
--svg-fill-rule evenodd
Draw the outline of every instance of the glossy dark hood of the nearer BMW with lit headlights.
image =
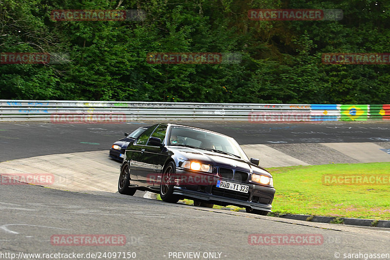
<svg viewBox="0 0 390 260">
<path fill-rule="evenodd" d="M 175 154 L 176 158 L 178 159 L 196 160 L 214 166 L 226 167 L 271 177 L 271 174 L 266 170 L 262 169 L 261 167 L 252 164 L 250 161 L 243 160 L 234 156 L 189 147 L 170 146 L 170 150 Z"/>
</svg>

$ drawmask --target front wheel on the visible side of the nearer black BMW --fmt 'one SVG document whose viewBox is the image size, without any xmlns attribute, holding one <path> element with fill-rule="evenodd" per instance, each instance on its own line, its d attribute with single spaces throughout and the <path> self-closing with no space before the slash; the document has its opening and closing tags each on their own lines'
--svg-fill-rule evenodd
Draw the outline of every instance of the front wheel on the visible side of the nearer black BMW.
<svg viewBox="0 0 390 260">
<path fill-rule="evenodd" d="M 176 203 L 179 201 L 179 197 L 173 195 L 174 193 L 174 178 L 175 178 L 175 164 L 170 161 L 165 165 L 162 171 L 162 178 L 160 184 L 160 197 L 161 200 L 170 203 Z"/>
</svg>

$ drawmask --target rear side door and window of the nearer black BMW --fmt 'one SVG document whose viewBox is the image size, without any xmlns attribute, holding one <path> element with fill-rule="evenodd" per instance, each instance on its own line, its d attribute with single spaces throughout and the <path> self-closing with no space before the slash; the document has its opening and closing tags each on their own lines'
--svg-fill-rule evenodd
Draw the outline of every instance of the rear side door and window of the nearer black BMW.
<svg viewBox="0 0 390 260">
<path fill-rule="evenodd" d="M 126 159 L 129 160 L 131 180 L 137 180 L 138 171 L 140 167 L 142 167 L 142 165 L 140 164 L 143 160 L 143 147 L 146 145 L 150 135 L 153 133 L 157 126 L 158 124 L 149 127 L 137 138 L 135 142 L 130 143 L 130 145 L 126 149 Z"/>
</svg>

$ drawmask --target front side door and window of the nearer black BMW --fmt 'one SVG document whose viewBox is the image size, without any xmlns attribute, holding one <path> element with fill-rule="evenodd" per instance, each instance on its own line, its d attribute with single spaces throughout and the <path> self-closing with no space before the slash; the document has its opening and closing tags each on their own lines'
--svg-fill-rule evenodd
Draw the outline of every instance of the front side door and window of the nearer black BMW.
<svg viewBox="0 0 390 260">
<path fill-rule="evenodd" d="M 160 124 L 153 132 L 151 137 L 156 137 L 164 142 L 167 132 L 167 125 Z M 164 153 L 163 146 L 154 146 L 148 143 L 143 146 L 143 154 L 140 158 L 140 167 L 137 171 L 138 180 L 147 183 L 147 186 L 152 188 L 155 182 L 158 180 L 157 174 L 161 172 L 165 160 L 167 159 L 167 153 Z M 165 148 L 166 150 L 166 148 Z"/>
</svg>

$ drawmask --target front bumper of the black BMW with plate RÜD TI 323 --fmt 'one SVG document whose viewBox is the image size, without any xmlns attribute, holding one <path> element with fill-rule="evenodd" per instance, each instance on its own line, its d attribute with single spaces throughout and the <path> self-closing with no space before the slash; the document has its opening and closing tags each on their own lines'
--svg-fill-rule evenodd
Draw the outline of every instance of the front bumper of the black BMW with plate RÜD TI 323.
<svg viewBox="0 0 390 260">
<path fill-rule="evenodd" d="M 213 178 L 215 177 L 218 180 L 226 180 L 224 178 L 216 176 L 215 174 L 192 173 L 180 169 L 176 169 L 176 174 L 188 174 L 193 176 L 203 175 Z M 189 185 L 188 183 L 176 183 L 179 185 L 174 186 L 174 194 L 181 195 L 186 198 L 208 201 L 209 203 L 217 205 L 235 205 L 239 207 L 250 207 L 252 209 L 271 212 L 271 204 L 273 201 L 273 196 L 275 194 L 275 189 L 273 187 L 261 186 L 247 182 L 233 182 L 248 185 L 249 192 L 246 194 L 241 192 L 224 190 L 215 187 L 215 183 L 211 185 L 207 185 L 205 183 L 201 183 L 199 185 L 196 185 L 194 183 L 191 183 L 191 185 Z"/>
</svg>

